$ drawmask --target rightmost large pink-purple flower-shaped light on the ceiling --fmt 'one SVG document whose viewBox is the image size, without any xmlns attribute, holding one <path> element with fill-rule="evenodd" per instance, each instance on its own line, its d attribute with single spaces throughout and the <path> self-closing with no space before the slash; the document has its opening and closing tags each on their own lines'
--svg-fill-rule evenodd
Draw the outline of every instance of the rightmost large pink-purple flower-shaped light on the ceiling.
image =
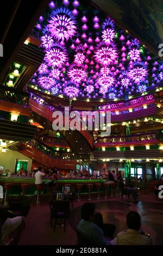
<svg viewBox="0 0 163 256">
<path fill-rule="evenodd" d="M 136 67 L 128 72 L 128 77 L 133 80 L 135 83 L 139 83 L 145 80 L 146 76 L 148 75 L 148 71 L 146 68 L 143 67 Z"/>
</svg>

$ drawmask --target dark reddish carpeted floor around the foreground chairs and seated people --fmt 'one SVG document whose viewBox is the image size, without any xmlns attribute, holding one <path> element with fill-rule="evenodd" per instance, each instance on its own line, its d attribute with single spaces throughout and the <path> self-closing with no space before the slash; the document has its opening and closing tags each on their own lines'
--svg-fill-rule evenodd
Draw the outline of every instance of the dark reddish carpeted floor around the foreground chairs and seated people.
<svg viewBox="0 0 163 256">
<path fill-rule="evenodd" d="M 101 212 L 105 223 L 116 225 L 115 235 L 126 228 L 126 214 L 136 210 L 142 218 L 142 229 L 153 237 L 155 245 L 163 245 L 163 202 L 155 201 L 153 194 L 142 195 L 140 202 L 135 205 L 120 197 L 92 200 L 96 210 Z M 49 225 L 49 206 L 42 204 L 32 206 L 26 218 L 26 229 L 23 230 L 20 245 L 76 245 L 77 237 L 74 229 L 80 220 L 80 207 L 85 201 L 74 202 L 66 233 L 64 227 L 57 227 L 55 233 Z"/>
</svg>

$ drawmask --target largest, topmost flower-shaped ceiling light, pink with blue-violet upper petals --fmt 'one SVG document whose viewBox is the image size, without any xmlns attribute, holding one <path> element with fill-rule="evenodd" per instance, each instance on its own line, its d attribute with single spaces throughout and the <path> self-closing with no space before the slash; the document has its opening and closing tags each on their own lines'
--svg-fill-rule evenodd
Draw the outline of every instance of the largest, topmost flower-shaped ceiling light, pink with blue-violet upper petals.
<svg viewBox="0 0 163 256">
<path fill-rule="evenodd" d="M 48 20 L 47 25 L 51 35 L 58 41 L 66 41 L 76 34 L 76 22 L 71 14 L 71 11 L 66 8 L 58 8 L 53 11 L 51 20 Z"/>
</svg>

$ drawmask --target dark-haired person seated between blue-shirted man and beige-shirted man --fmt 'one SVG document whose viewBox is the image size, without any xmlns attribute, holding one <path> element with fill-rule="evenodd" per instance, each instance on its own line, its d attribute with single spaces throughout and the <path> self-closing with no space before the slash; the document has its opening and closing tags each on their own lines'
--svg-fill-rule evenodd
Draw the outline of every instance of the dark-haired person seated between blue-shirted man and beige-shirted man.
<svg viewBox="0 0 163 256">
<path fill-rule="evenodd" d="M 116 226 L 114 224 L 110 223 L 104 223 L 103 222 L 103 216 L 100 212 L 95 212 L 93 216 L 93 222 L 98 225 L 99 228 L 101 228 L 104 232 L 104 236 L 113 239 L 114 233 L 116 230 Z"/>
</svg>

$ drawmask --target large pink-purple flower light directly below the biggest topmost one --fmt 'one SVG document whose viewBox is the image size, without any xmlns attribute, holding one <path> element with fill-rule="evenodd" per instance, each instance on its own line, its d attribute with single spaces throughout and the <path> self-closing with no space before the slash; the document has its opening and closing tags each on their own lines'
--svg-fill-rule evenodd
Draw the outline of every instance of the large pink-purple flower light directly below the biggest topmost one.
<svg viewBox="0 0 163 256">
<path fill-rule="evenodd" d="M 53 48 L 46 51 L 45 61 L 51 66 L 61 68 L 67 62 L 67 53 L 63 47 L 55 44 Z"/>
</svg>

